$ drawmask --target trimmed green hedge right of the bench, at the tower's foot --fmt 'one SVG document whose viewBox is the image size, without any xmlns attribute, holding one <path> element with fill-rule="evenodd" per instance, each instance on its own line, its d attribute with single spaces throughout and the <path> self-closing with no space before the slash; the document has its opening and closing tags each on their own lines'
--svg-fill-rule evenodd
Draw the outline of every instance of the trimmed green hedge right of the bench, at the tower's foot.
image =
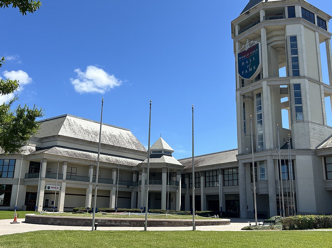
<svg viewBox="0 0 332 248">
<path fill-rule="evenodd" d="M 283 230 L 332 228 L 332 215 L 296 215 L 282 220 Z"/>
</svg>

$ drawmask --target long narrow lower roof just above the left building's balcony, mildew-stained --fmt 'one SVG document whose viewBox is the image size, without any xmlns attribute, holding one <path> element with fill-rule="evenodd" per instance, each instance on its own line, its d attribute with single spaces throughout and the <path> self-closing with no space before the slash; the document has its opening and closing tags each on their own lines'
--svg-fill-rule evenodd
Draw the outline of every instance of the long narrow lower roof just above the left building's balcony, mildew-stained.
<svg viewBox="0 0 332 248">
<path fill-rule="evenodd" d="M 97 161 L 97 157 L 98 157 L 97 153 L 71 150 L 71 149 L 62 148 L 62 147 L 52 147 L 52 148 L 45 149 L 45 150 L 38 150 L 38 151 L 31 153 L 31 155 L 36 155 L 36 154 L 41 154 L 41 153 L 52 154 L 52 155 L 57 155 L 57 156 L 65 156 L 65 157 L 70 157 L 70 158 L 87 159 L 87 160 L 92 160 L 92 161 Z M 114 163 L 114 164 L 128 165 L 128 166 L 136 166 L 137 164 L 142 162 L 140 160 L 121 158 L 121 157 L 115 157 L 115 156 L 104 155 L 104 154 L 100 154 L 99 161 L 101 163 L 106 162 L 106 163 Z"/>
</svg>

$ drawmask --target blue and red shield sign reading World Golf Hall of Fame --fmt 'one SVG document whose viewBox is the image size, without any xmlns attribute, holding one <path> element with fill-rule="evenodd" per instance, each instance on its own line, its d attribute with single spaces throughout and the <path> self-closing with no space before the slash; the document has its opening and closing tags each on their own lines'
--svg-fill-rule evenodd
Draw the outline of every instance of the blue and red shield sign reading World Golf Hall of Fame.
<svg viewBox="0 0 332 248">
<path fill-rule="evenodd" d="M 244 79 L 255 78 L 262 70 L 261 43 L 247 40 L 237 53 L 237 73 Z"/>
</svg>

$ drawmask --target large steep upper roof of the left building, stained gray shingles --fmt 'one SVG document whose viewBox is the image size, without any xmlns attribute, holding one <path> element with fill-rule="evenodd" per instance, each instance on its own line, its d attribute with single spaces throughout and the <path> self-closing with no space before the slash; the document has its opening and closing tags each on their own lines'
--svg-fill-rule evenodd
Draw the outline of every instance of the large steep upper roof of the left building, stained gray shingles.
<svg viewBox="0 0 332 248">
<path fill-rule="evenodd" d="M 63 115 L 41 120 L 41 129 L 37 138 L 48 137 L 52 135 L 62 135 L 76 139 L 99 142 L 100 124 L 95 121 L 83 119 L 71 115 Z M 138 151 L 146 151 L 145 147 L 130 132 L 129 129 L 102 125 L 101 142 L 103 144 L 114 145 Z"/>
</svg>

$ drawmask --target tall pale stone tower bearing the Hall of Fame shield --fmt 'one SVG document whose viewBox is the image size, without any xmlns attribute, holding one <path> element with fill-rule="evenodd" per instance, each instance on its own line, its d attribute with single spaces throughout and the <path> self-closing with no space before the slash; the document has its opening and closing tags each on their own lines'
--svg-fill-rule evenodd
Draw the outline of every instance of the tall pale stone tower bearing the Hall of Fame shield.
<svg viewBox="0 0 332 248">
<path fill-rule="evenodd" d="M 257 212 L 332 212 L 332 191 L 324 188 L 322 157 L 315 153 L 332 135 L 325 112 L 325 97 L 332 94 L 331 18 L 304 0 L 250 0 L 231 23 L 242 218 L 254 215 L 250 115 Z M 321 60 L 323 50 L 327 61 Z"/>
</svg>

